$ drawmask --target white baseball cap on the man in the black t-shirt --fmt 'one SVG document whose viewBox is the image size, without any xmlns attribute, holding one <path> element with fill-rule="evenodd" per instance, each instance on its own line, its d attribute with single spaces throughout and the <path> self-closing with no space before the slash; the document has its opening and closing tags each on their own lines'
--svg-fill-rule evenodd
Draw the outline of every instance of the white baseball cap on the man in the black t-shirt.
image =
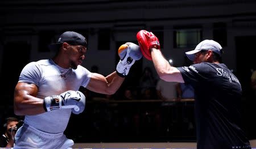
<svg viewBox="0 0 256 149">
<path fill-rule="evenodd" d="M 214 53 L 217 53 L 221 56 L 222 52 L 222 47 L 221 45 L 214 41 L 214 40 L 204 40 L 201 41 L 195 48 L 195 50 L 191 50 L 189 52 L 185 52 L 187 57 L 191 60 L 194 61 L 195 59 L 195 54 L 197 52 L 200 52 L 201 50 L 212 50 Z"/>
</svg>

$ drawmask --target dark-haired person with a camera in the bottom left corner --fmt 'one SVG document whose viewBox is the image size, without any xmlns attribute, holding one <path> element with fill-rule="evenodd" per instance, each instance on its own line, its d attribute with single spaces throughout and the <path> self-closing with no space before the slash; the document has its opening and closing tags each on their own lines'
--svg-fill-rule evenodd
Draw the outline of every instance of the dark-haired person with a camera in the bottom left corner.
<svg viewBox="0 0 256 149">
<path fill-rule="evenodd" d="M 17 131 L 17 126 L 19 123 L 18 118 L 16 117 L 8 117 L 6 118 L 6 122 L 3 125 L 5 128 L 5 133 L 0 137 L 0 147 L 11 148 L 14 147 L 14 136 Z"/>
</svg>

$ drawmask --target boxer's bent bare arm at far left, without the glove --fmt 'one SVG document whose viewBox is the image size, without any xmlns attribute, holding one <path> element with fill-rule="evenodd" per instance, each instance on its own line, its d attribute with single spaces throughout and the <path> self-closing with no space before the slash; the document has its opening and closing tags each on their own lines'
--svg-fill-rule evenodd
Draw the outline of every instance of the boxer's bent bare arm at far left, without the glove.
<svg viewBox="0 0 256 149">
<path fill-rule="evenodd" d="M 14 91 L 14 113 L 18 116 L 44 113 L 43 99 L 36 97 L 35 84 L 19 82 Z"/>
</svg>

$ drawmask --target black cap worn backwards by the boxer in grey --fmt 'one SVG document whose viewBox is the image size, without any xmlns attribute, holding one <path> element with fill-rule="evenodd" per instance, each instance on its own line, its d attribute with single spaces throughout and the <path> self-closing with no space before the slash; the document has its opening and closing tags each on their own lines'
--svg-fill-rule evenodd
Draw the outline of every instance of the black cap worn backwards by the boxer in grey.
<svg viewBox="0 0 256 149">
<path fill-rule="evenodd" d="M 85 47 L 87 46 L 87 41 L 84 36 L 82 36 L 80 33 L 77 33 L 77 32 L 67 31 L 60 35 L 57 43 L 50 44 L 49 49 L 59 50 L 63 42 L 67 42 L 68 44 L 71 44 L 71 45 L 82 45 Z"/>
</svg>

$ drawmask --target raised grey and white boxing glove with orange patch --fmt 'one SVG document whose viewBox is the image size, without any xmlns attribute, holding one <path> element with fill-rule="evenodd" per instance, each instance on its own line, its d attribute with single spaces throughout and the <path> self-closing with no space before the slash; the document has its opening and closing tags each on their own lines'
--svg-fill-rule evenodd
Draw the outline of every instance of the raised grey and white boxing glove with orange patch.
<svg viewBox="0 0 256 149">
<path fill-rule="evenodd" d="M 141 50 L 137 44 L 126 42 L 118 49 L 120 61 L 117 64 L 117 74 L 121 77 L 128 75 L 131 66 L 135 61 L 142 58 Z"/>
</svg>

